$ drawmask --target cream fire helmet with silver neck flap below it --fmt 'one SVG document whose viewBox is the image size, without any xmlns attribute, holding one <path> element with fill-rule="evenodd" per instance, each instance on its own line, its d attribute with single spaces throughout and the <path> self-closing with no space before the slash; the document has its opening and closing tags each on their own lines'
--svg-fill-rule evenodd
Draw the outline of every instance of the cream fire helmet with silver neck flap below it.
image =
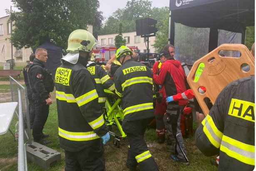
<svg viewBox="0 0 256 171">
<path fill-rule="evenodd" d="M 66 51 L 90 52 L 97 43 L 99 42 L 89 31 L 78 29 L 70 34 Z"/>
</svg>

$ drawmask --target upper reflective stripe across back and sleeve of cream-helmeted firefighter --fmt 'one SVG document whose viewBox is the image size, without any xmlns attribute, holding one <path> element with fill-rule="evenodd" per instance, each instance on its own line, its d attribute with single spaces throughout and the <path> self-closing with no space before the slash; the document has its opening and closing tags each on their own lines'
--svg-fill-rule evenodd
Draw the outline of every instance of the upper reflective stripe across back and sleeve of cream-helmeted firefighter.
<svg viewBox="0 0 256 171">
<path fill-rule="evenodd" d="M 77 103 L 78 106 L 87 104 L 88 102 L 96 99 L 97 97 L 98 94 L 96 92 L 96 89 L 77 98 L 75 98 L 72 94 L 66 94 L 65 92 L 56 91 L 56 99 L 67 101 L 67 103 Z"/>
</svg>

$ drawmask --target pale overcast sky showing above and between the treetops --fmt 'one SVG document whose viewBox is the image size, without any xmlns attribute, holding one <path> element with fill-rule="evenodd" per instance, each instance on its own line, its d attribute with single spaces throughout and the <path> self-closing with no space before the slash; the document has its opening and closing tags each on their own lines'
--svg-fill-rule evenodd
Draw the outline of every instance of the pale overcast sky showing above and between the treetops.
<svg viewBox="0 0 256 171">
<path fill-rule="evenodd" d="M 99 11 L 103 12 L 103 16 L 108 18 L 118 8 L 124 8 L 128 0 L 99 0 Z M 169 7 L 169 0 L 150 0 L 152 7 Z M 0 18 L 7 16 L 5 9 L 10 9 L 11 0 L 0 0 Z M 12 7 L 12 9 L 15 9 Z M 17 11 L 17 9 L 16 9 Z"/>
</svg>

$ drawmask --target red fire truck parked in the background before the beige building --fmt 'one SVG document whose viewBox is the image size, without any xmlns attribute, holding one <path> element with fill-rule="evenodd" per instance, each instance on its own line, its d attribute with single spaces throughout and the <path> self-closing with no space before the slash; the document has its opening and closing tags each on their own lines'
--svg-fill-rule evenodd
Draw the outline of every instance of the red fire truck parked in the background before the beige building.
<svg viewBox="0 0 256 171">
<path fill-rule="evenodd" d="M 133 52 L 138 53 L 138 48 L 136 46 L 127 46 L 128 48 L 130 48 Z M 104 61 L 108 61 L 111 56 L 113 54 L 116 53 L 117 49 L 116 47 L 112 46 L 112 47 L 102 47 L 102 46 L 96 46 L 94 47 L 94 49 L 92 50 L 95 54 L 95 59 L 100 61 L 100 62 L 104 62 Z"/>
</svg>

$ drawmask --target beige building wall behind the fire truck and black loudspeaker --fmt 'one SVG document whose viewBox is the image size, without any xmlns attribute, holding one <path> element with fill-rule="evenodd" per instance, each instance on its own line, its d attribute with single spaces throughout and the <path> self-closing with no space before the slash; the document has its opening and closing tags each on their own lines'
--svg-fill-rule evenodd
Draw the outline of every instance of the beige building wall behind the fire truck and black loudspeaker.
<svg viewBox="0 0 256 171">
<path fill-rule="evenodd" d="M 114 46 L 114 37 L 117 36 L 117 34 L 106 34 L 106 35 L 100 35 L 98 36 L 98 41 L 99 44 L 102 46 Z M 126 46 L 137 46 L 138 49 L 140 50 L 140 52 L 144 52 L 144 50 L 146 50 L 146 45 L 144 42 L 144 38 L 141 38 L 139 36 L 139 41 L 140 43 L 135 43 L 135 36 L 136 36 L 136 31 L 134 32 L 127 32 L 127 33 L 123 33 L 123 37 L 128 37 L 130 36 L 130 43 L 127 43 Z M 113 38 L 113 43 L 109 44 L 109 39 Z M 105 44 L 102 44 L 102 39 L 105 39 Z M 149 52 L 150 53 L 154 53 L 156 51 L 156 48 L 152 47 L 152 44 L 154 44 L 155 41 L 155 37 L 149 37 Z M 146 42 L 147 44 L 147 42 Z"/>
</svg>

